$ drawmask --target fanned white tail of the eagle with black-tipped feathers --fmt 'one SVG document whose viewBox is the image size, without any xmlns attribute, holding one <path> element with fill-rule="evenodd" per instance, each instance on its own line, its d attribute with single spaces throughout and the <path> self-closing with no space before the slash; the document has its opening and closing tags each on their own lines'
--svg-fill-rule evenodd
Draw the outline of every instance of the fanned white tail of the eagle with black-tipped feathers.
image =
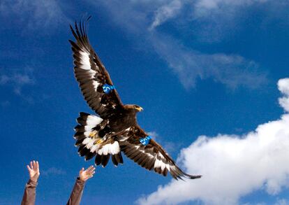
<svg viewBox="0 0 289 205">
<path fill-rule="evenodd" d="M 106 126 L 108 120 L 103 120 L 96 115 L 80 113 L 77 122 L 80 125 L 75 127 L 74 138 L 81 157 L 90 160 L 96 156 L 96 165 L 102 164 L 103 167 L 108 164 L 110 155 L 115 166 L 123 163 L 117 138 L 108 136 L 110 134 L 110 129 Z"/>
</svg>

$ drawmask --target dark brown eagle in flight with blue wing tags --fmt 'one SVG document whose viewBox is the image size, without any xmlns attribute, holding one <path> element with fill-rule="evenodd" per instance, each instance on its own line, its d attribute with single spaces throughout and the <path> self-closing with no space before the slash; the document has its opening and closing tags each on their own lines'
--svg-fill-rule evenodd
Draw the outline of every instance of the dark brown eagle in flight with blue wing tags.
<svg viewBox="0 0 289 205">
<path fill-rule="evenodd" d="M 90 18 L 90 17 L 89 17 Z M 123 164 L 121 152 L 148 170 L 175 179 L 200 178 L 181 171 L 172 157 L 138 125 L 136 114 L 142 108 L 122 104 L 108 71 L 94 52 L 87 37 L 87 22 L 80 21 L 71 31 L 74 73 L 84 99 L 97 115 L 80 113 L 75 127 L 75 146 L 85 160 L 95 157 L 95 164 L 105 167 L 112 158 L 115 166 Z"/>
</svg>

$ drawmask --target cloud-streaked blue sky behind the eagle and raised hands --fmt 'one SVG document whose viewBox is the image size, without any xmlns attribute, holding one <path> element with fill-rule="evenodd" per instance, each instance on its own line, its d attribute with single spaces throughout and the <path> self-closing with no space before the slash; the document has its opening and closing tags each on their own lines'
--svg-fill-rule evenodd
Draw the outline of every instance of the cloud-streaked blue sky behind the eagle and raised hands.
<svg viewBox="0 0 289 205">
<path fill-rule="evenodd" d="M 141 127 L 189 174 L 228 176 L 215 176 L 223 188 L 203 178 L 175 183 L 125 158 L 96 169 L 82 204 L 289 204 L 288 128 L 272 141 L 278 153 L 255 141 L 287 122 L 279 98 L 289 84 L 279 79 L 289 76 L 288 8 L 281 0 L 1 1 L 0 204 L 19 204 L 30 160 L 40 162 L 38 204 L 65 204 L 78 171 L 94 163 L 73 146 L 75 118 L 93 112 L 68 43 L 69 24 L 87 14 L 90 42 L 122 101 L 144 108 Z M 236 153 L 235 164 L 222 160 Z M 230 184 L 239 174 L 249 180 Z M 181 188 L 189 193 L 169 196 Z"/>
</svg>

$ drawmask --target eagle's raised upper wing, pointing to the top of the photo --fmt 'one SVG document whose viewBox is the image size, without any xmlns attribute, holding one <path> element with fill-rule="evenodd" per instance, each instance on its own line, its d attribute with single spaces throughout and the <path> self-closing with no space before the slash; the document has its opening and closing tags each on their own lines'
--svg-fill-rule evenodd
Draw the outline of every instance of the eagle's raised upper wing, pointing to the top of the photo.
<svg viewBox="0 0 289 205">
<path fill-rule="evenodd" d="M 87 21 L 89 18 L 87 19 Z M 105 66 L 94 52 L 87 37 L 85 22 L 75 22 L 75 29 L 71 27 L 76 42 L 69 40 L 72 45 L 74 58 L 75 78 L 80 84 L 82 94 L 87 104 L 98 113 L 102 118 L 107 118 L 115 113 L 116 109 L 124 108 L 114 89 L 112 80 Z M 106 90 L 105 87 L 109 90 Z"/>
</svg>

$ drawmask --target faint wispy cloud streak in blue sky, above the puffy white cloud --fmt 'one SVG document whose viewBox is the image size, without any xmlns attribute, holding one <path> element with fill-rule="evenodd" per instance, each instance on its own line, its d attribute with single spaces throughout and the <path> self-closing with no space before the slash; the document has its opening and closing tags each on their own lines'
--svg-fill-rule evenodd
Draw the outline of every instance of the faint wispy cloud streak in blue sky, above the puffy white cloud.
<svg viewBox="0 0 289 205">
<path fill-rule="evenodd" d="M 151 42 L 187 89 L 194 87 L 198 78 L 212 78 L 232 89 L 239 86 L 257 88 L 267 82 L 266 73 L 258 71 L 258 64 L 239 55 L 203 54 L 188 50 L 166 36 L 156 38 L 155 35 Z"/>
</svg>

